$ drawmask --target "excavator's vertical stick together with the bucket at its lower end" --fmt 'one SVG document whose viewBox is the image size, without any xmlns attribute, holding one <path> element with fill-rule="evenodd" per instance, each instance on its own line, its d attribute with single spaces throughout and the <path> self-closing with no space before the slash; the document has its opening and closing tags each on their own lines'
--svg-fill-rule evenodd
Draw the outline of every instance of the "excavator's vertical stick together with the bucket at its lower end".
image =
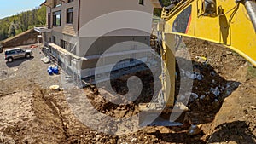
<svg viewBox="0 0 256 144">
<path fill-rule="evenodd" d="M 159 24 L 158 26 L 163 27 Z M 140 103 L 139 104 L 139 125 L 140 126 L 179 126 L 183 125 L 186 118 L 187 107 L 175 107 L 175 73 L 176 59 L 172 51 L 177 44 L 175 35 L 164 33 L 163 38 L 168 39 L 166 44 L 162 45 L 161 57 L 162 75 L 160 77 L 162 90 L 158 95 L 158 103 Z M 165 103 L 165 106 L 163 105 Z M 184 108 L 185 107 L 185 108 Z"/>
</svg>

